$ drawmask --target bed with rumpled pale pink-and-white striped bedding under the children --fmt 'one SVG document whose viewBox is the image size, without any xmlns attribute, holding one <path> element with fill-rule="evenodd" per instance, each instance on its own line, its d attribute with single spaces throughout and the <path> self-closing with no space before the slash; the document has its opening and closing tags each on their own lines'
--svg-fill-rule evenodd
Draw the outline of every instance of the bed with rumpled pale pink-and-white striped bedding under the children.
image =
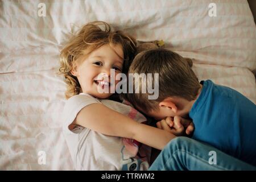
<svg viewBox="0 0 256 182">
<path fill-rule="evenodd" d="M 216 16 L 210 3 L 216 5 Z M 0 169 L 72 170 L 60 114 L 59 52 L 77 28 L 103 20 L 195 59 L 199 80 L 256 103 L 256 27 L 245 0 L 0 1 Z"/>
</svg>

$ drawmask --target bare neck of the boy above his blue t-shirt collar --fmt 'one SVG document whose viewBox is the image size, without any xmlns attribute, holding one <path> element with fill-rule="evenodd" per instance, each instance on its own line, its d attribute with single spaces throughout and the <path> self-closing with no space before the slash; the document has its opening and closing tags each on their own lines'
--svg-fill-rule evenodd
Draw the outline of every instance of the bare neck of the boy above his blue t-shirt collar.
<svg viewBox="0 0 256 182">
<path fill-rule="evenodd" d="M 193 104 L 195 104 L 197 98 L 199 98 L 202 88 L 203 88 L 203 85 L 200 84 L 200 88 L 198 90 L 195 100 L 192 100 L 192 101 L 183 100 L 180 102 L 180 108 L 182 109 L 178 111 L 179 113 L 177 115 L 180 115 L 181 117 L 187 117 L 187 118 L 189 117 L 188 115 L 189 111 L 192 109 Z"/>
</svg>

